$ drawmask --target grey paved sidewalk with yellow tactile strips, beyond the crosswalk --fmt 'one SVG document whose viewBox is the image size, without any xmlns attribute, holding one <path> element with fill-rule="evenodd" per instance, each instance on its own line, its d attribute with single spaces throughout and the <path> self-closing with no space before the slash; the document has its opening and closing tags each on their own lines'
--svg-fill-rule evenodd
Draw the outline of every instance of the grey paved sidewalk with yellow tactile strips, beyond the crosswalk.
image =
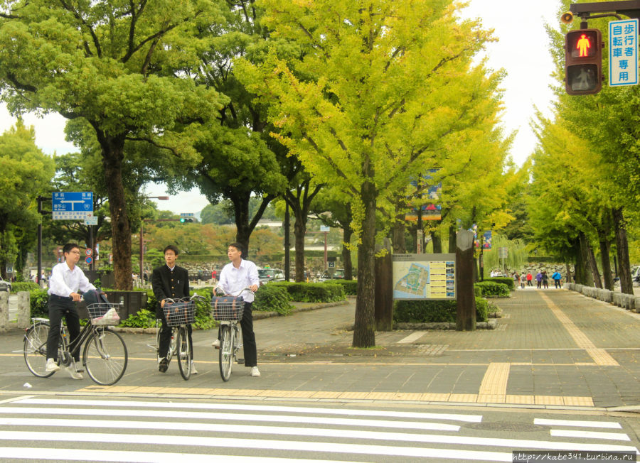
<svg viewBox="0 0 640 463">
<path fill-rule="evenodd" d="M 498 329 L 377 332 L 377 347 L 353 349 L 355 301 L 255 321 L 262 376 L 234 366 L 218 374 L 214 331 L 195 332 L 199 374 L 173 363 L 159 374 L 151 334 L 124 334 L 127 374 L 104 388 L 62 374 L 39 379 L 19 354 L 21 333 L 0 335 L 0 391 L 242 396 L 290 400 L 403 401 L 533 408 L 640 405 L 640 315 L 568 290 L 517 290 L 494 300 Z M 23 388 L 23 383 L 33 388 Z"/>
</svg>

